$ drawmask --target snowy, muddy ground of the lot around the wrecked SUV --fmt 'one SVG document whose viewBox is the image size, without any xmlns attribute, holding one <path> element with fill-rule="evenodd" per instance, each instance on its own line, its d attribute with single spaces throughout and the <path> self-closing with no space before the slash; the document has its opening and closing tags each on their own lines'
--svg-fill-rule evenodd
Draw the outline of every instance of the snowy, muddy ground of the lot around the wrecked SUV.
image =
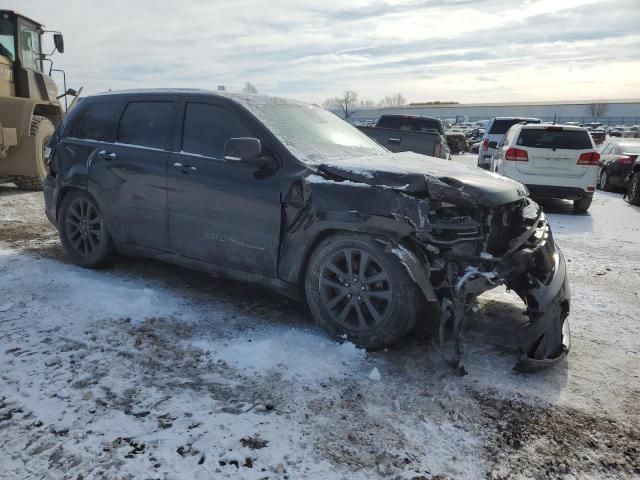
<svg viewBox="0 0 640 480">
<path fill-rule="evenodd" d="M 496 290 L 458 377 L 428 337 L 367 353 L 261 287 L 75 267 L 41 194 L 0 186 L 0 478 L 638 478 L 640 209 L 600 192 L 587 215 L 545 209 L 568 361 L 513 372 L 522 309 Z"/>
</svg>

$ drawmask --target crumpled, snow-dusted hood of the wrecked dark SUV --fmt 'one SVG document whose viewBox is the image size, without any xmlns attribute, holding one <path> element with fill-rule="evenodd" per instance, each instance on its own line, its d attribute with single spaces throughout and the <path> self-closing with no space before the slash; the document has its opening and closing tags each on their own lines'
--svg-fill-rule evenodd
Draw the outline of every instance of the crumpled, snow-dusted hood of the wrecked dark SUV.
<svg viewBox="0 0 640 480">
<path fill-rule="evenodd" d="M 493 207 L 529 195 L 523 184 L 502 175 L 413 152 L 331 159 L 318 172 L 461 206 Z"/>
</svg>

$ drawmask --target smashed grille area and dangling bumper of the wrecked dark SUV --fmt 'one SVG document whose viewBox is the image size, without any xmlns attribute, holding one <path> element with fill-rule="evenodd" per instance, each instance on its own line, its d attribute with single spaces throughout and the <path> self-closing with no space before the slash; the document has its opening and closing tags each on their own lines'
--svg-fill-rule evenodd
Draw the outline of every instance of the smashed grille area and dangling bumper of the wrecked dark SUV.
<svg viewBox="0 0 640 480">
<path fill-rule="evenodd" d="M 481 293 L 505 285 L 524 301 L 528 325 L 518 333 L 520 358 L 515 369 L 530 372 L 561 361 L 570 347 L 569 285 L 562 252 L 553 241 L 542 209 L 532 200 L 484 209 L 475 229 L 473 217 L 455 212 L 433 213 L 433 225 L 449 227 L 417 232 L 431 254 L 431 280 L 441 298 L 440 343 L 445 352 L 445 326 L 453 325 L 454 354 L 446 360 L 464 373 L 462 335 L 466 314 Z M 444 218 L 439 216 L 445 215 Z M 460 229 L 455 229 L 457 223 Z M 444 235 L 444 237 L 443 237 Z M 454 238 L 454 237 L 457 237 Z M 467 240 L 466 238 L 472 238 Z M 425 251 L 432 249 L 428 247 Z"/>
</svg>

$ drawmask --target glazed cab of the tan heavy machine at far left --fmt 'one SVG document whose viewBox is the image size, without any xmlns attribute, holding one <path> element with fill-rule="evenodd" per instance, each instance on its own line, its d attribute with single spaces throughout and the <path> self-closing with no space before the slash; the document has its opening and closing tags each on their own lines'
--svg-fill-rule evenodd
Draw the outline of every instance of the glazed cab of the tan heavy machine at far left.
<svg viewBox="0 0 640 480">
<path fill-rule="evenodd" d="M 46 68 L 53 52 L 43 52 L 44 33 L 38 22 L 14 11 L 0 10 L 0 97 L 59 103 L 58 89 L 50 77 L 50 68 Z M 62 35 L 55 33 L 54 40 L 55 50 L 62 52 Z"/>
</svg>

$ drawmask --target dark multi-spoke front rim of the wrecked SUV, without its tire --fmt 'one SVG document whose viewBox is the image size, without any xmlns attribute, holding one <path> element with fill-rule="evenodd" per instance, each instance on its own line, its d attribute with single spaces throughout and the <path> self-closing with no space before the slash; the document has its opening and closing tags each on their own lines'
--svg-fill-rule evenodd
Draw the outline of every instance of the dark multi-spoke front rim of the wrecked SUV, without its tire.
<svg viewBox="0 0 640 480">
<path fill-rule="evenodd" d="M 364 250 L 339 250 L 322 265 L 322 305 L 336 323 L 349 330 L 368 330 L 384 322 L 392 293 L 389 275 Z"/>
</svg>

